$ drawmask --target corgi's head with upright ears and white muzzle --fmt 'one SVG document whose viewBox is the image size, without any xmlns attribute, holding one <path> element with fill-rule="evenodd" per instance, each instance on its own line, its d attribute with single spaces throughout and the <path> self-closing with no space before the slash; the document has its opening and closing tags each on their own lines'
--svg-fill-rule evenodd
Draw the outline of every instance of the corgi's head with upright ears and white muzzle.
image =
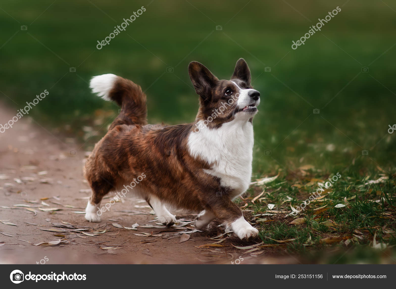
<svg viewBox="0 0 396 289">
<path fill-rule="evenodd" d="M 243 58 L 236 62 L 230 80 L 219 80 L 196 61 L 188 65 L 188 74 L 200 95 L 196 122 L 202 120 L 208 127 L 219 127 L 232 120 L 251 120 L 257 113 L 260 93 L 251 87 L 250 70 Z"/>
</svg>

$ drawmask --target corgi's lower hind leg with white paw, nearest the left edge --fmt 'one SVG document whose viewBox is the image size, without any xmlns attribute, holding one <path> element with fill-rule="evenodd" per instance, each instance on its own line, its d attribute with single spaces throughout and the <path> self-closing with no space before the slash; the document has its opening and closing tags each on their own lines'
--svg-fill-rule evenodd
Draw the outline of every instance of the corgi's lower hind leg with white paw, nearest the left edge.
<svg viewBox="0 0 396 289">
<path fill-rule="evenodd" d="M 112 189 L 112 184 L 102 179 L 101 181 L 92 182 L 91 188 L 92 194 L 85 209 L 85 219 L 89 222 L 100 222 L 100 216 L 105 211 L 101 209 L 100 203 L 103 197 Z M 107 207 L 106 209 L 108 210 Z"/>
</svg>

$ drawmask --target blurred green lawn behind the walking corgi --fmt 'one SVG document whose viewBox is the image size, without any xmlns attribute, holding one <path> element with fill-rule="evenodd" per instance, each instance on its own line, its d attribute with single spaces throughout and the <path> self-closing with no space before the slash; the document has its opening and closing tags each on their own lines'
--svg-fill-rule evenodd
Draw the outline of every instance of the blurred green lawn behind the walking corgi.
<svg viewBox="0 0 396 289">
<path fill-rule="evenodd" d="M 96 48 L 141 6 L 146 11 L 126 31 Z M 291 49 L 337 6 L 321 32 Z M 0 8 L 0 97 L 16 113 L 47 89 L 29 116 L 78 136 L 87 149 L 118 110 L 90 93 L 91 76 L 133 80 L 148 96 L 150 123 L 178 124 L 192 122 L 198 109 L 188 63 L 229 79 L 243 57 L 262 97 L 253 177 L 303 164 L 335 173 L 362 150 L 369 155 L 359 157 L 357 171 L 394 166 L 395 134 L 387 130 L 396 124 L 395 1 L 36 0 Z"/>
</svg>

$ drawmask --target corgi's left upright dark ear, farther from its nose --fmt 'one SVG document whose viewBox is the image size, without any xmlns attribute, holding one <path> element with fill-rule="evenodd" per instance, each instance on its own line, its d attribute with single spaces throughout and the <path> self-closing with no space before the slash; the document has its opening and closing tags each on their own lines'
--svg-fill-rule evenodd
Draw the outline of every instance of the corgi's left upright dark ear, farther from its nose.
<svg viewBox="0 0 396 289">
<path fill-rule="evenodd" d="M 215 86 L 219 79 L 208 68 L 196 61 L 192 61 L 188 65 L 188 75 L 196 93 L 205 100 L 210 100 L 212 97 L 212 87 Z"/>
</svg>

